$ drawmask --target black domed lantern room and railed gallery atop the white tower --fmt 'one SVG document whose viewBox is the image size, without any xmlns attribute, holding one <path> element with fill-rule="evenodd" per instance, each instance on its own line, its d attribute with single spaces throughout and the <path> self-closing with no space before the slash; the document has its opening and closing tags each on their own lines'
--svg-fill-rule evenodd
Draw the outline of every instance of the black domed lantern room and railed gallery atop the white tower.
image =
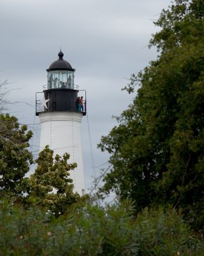
<svg viewBox="0 0 204 256">
<path fill-rule="evenodd" d="M 47 69 L 47 85 L 43 86 L 43 100 L 39 99 L 39 92 L 36 93 L 36 115 L 46 111 L 75 111 L 86 115 L 85 90 L 78 90 L 78 86 L 75 85 L 75 69 L 63 59 L 63 52 L 60 51 L 58 56 L 59 59 Z M 80 95 L 79 98 L 78 92 L 83 92 L 84 97 Z"/>
</svg>

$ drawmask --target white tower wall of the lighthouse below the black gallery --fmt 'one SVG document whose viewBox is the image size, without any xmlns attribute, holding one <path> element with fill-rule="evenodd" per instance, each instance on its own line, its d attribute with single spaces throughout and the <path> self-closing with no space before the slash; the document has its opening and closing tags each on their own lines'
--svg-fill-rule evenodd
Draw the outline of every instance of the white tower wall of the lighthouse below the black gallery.
<svg viewBox="0 0 204 256">
<path fill-rule="evenodd" d="M 74 191 L 79 195 L 85 193 L 84 166 L 82 158 L 81 122 L 82 113 L 77 112 L 43 112 L 39 114 L 41 122 L 40 150 L 49 145 L 54 156 L 70 154 L 69 163 L 77 163 L 71 170 Z"/>
</svg>

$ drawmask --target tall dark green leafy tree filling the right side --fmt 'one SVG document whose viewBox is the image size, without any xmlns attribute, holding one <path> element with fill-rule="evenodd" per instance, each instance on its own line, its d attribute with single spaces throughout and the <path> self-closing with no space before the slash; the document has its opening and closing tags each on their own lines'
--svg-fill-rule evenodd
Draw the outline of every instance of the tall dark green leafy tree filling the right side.
<svg viewBox="0 0 204 256">
<path fill-rule="evenodd" d="M 99 144 L 113 166 L 101 192 L 131 198 L 138 211 L 182 207 L 197 227 L 204 212 L 203 18 L 201 0 L 175 0 L 161 12 L 154 22 L 161 31 L 150 40 L 160 54 L 131 76 L 126 90 L 140 86 L 133 104 Z"/>
</svg>

